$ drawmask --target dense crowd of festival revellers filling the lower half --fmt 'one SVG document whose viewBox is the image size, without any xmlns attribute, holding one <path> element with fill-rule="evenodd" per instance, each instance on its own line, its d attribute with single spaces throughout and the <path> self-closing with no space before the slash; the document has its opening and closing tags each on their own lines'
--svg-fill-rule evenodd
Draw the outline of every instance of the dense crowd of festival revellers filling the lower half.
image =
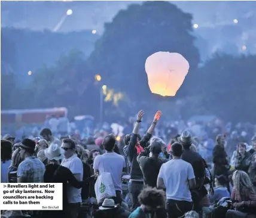
<svg viewBox="0 0 256 218">
<path fill-rule="evenodd" d="M 106 132 L 84 141 L 66 132 L 58 138 L 48 127 L 34 139 L 5 135 L 1 182 L 63 183 L 63 210 L 1 211 L 1 218 L 217 217 L 223 198 L 230 205 L 222 217 L 256 217 L 256 136 L 250 146 L 242 128 L 208 128 L 214 142 L 206 127 L 202 140 L 187 126 L 181 134 L 172 126 L 166 143 L 156 131 L 161 111 L 141 136 L 142 117 L 141 110 L 121 141 Z M 115 194 L 99 198 L 97 180 L 104 173 L 110 173 Z"/>
</svg>

